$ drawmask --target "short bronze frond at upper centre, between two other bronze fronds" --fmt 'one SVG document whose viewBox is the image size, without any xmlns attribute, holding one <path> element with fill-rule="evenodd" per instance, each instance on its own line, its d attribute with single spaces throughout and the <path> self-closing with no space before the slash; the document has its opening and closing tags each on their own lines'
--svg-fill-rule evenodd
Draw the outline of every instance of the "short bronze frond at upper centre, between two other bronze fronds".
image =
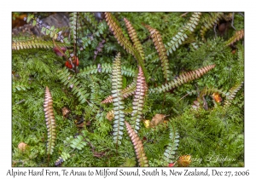
<svg viewBox="0 0 256 179">
<path fill-rule="evenodd" d="M 143 45 L 142 43 L 140 43 L 140 41 L 137 38 L 137 32 L 135 31 L 135 29 L 133 28 L 133 26 L 131 25 L 131 22 L 127 19 L 125 19 L 125 26 L 128 30 L 129 36 L 131 38 L 131 41 L 133 43 L 133 46 L 135 47 L 135 49 L 137 49 L 137 51 L 140 53 L 143 61 L 145 61 L 145 55 L 144 55 L 144 51 L 143 51 Z"/>
</svg>

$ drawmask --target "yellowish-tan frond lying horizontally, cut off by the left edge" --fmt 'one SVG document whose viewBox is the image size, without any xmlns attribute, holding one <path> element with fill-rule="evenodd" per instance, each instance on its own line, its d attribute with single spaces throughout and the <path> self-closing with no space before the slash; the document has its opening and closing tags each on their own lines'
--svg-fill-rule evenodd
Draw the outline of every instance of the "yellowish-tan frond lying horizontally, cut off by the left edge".
<svg viewBox="0 0 256 179">
<path fill-rule="evenodd" d="M 59 43 L 55 42 L 59 47 L 70 47 L 67 43 Z M 28 39 L 28 40 L 13 40 L 12 42 L 12 49 L 51 49 L 55 45 L 52 41 L 45 41 L 43 39 Z"/>
</svg>

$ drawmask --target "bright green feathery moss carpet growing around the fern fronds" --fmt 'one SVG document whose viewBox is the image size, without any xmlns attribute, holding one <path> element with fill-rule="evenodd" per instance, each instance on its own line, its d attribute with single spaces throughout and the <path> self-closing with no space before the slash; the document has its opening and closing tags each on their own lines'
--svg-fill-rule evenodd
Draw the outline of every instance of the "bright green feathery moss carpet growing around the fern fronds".
<svg viewBox="0 0 256 179">
<path fill-rule="evenodd" d="M 164 43 L 172 37 L 189 20 L 189 15 L 182 13 L 113 13 L 116 20 L 129 39 L 123 18 L 131 21 L 137 31 L 137 37 L 143 44 L 145 53 L 144 66 L 148 71 L 148 88 L 155 88 L 165 84 L 159 56 L 154 49 L 149 33 L 142 23 L 157 29 Z M 83 28 L 79 29 L 78 37 L 83 39 L 84 49 L 79 50 L 79 71 L 84 67 L 108 63 L 112 65 L 113 58 L 120 52 L 121 66 L 137 69 L 137 61 L 133 55 L 123 49 L 108 30 L 105 20 L 102 22 L 87 21 L 84 16 Z M 93 18 L 91 16 L 90 18 Z M 234 26 L 243 28 L 243 16 L 235 13 Z M 102 23 L 102 24 L 101 24 Z M 236 93 L 230 107 L 223 107 L 226 97 L 216 105 L 210 95 L 205 99 L 208 109 L 192 108 L 192 104 L 205 87 L 212 87 L 227 92 L 235 84 L 244 80 L 244 58 L 242 40 L 236 42 L 236 53 L 225 46 L 226 37 L 215 37 L 213 29 L 206 34 L 207 41 L 201 39 L 199 21 L 195 32 L 189 35 L 176 51 L 169 55 L 171 80 L 183 72 L 193 71 L 202 66 L 216 64 L 212 71 L 188 84 L 182 84 L 172 90 L 159 94 L 147 94 L 143 105 L 143 119 L 152 120 L 156 113 L 166 115 L 168 123 L 175 124 L 179 145 L 174 159 L 189 154 L 192 157 L 190 166 L 243 166 L 244 163 L 244 90 Z M 71 27 L 72 28 L 72 27 Z M 101 32 L 100 32 L 101 31 Z M 233 28 L 228 34 L 234 34 Z M 85 38 L 93 35 L 90 40 Z M 94 50 L 102 39 L 106 40 L 102 52 L 93 60 Z M 130 40 L 130 39 L 129 39 Z M 196 43 L 197 49 L 193 49 Z M 72 50 L 71 50 L 72 51 Z M 55 166 L 55 162 L 63 153 L 69 153 L 62 166 L 120 166 L 127 159 L 136 157 L 131 140 L 124 129 L 122 143 L 117 148 L 113 143 L 113 121 L 106 118 L 113 109 L 113 104 L 101 104 L 111 95 L 111 72 L 91 70 L 83 75 L 70 75 L 79 81 L 78 88 L 86 96 L 84 103 L 79 99 L 68 79 L 61 81 L 60 73 L 66 59 L 55 55 L 52 49 L 20 49 L 13 50 L 13 93 L 12 93 L 12 153 L 13 166 Z M 134 72 L 137 73 L 136 70 Z M 122 88 L 133 81 L 131 73 L 125 75 Z M 66 83 L 66 84 L 65 84 Z M 73 81 L 73 84 L 75 81 Z M 21 87 L 22 86 L 22 87 Z M 56 145 L 49 160 L 46 155 L 47 128 L 44 119 L 43 103 L 44 89 L 49 87 L 53 97 L 53 107 L 56 121 Z M 194 91 L 192 93 L 191 91 Z M 225 93 L 227 94 L 227 93 Z M 125 111 L 131 111 L 133 96 L 124 100 Z M 63 116 L 62 109 L 70 111 Z M 125 120 L 131 120 L 131 113 L 125 113 Z M 83 126 L 81 124 L 84 124 Z M 82 126 L 82 127 L 81 127 Z M 143 141 L 144 151 L 150 166 L 163 166 L 166 161 L 162 155 L 170 144 L 169 130 L 160 124 L 155 128 L 146 128 L 143 121 L 139 124 L 138 136 Z M 71 143 L 78 136 L 83 137 L 85 145 L 82 149 L 72 147 Z M 22 152 L 18 144 L 23 141 L 29 147 Z M 225 159 L 228 158 L 228 159 Z M 224 159 L 223 161 L 221 159 Z"/>
</svg>

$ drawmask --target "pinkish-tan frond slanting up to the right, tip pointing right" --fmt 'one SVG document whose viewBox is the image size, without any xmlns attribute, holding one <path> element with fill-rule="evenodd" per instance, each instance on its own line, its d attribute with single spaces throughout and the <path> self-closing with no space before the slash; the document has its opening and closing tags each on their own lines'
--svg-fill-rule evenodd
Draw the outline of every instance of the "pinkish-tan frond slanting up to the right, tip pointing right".
<svg viewBox="0 0 256 179">
<path fill-rule="evenodd" d="M 179 75 L 176 79 L 173 79 L 171 82 L 167 84 L 162 84 L 160 87 L 149 89 L 149 93 L 162 93 L 166 92 L 167 90 L 172 90 L 173 88 L 188 83 L 191 80 L 194 80 L 196 78 L 200 78 L 203 74 L 207 73 L 208 71 L 212 70 L 215 65 L 211 66 L 204 66 L 200 69 L 197 69 L 195 71 L 191 72 L 185 72 L 181 75 Z"/>
</svg>

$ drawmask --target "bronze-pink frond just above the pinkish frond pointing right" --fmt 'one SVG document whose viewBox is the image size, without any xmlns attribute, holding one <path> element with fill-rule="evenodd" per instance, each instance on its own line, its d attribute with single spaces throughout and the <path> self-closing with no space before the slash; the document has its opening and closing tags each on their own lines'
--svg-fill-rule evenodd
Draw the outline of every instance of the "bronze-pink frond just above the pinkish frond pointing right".
<svg viewBox="0 0 256 179">
<path fill-rule="evenodd" d="M 154 42 L 154 47 L 159 54 L 162 70 L 164 72 L 164 77 L 166 78 L 167 81 L 169 81 L 171 77 L 171 72 L 169 70 L 170 68 L 169 61 L 167 59 L 166 48 L 161 38 L 160 32 L 158 32 L 156 29 L 152 28 L 151 26 L 145 25 L 145 27 L 150 32 L 151 38 L 153 39 L 153 42 Z"/>
</svg>

